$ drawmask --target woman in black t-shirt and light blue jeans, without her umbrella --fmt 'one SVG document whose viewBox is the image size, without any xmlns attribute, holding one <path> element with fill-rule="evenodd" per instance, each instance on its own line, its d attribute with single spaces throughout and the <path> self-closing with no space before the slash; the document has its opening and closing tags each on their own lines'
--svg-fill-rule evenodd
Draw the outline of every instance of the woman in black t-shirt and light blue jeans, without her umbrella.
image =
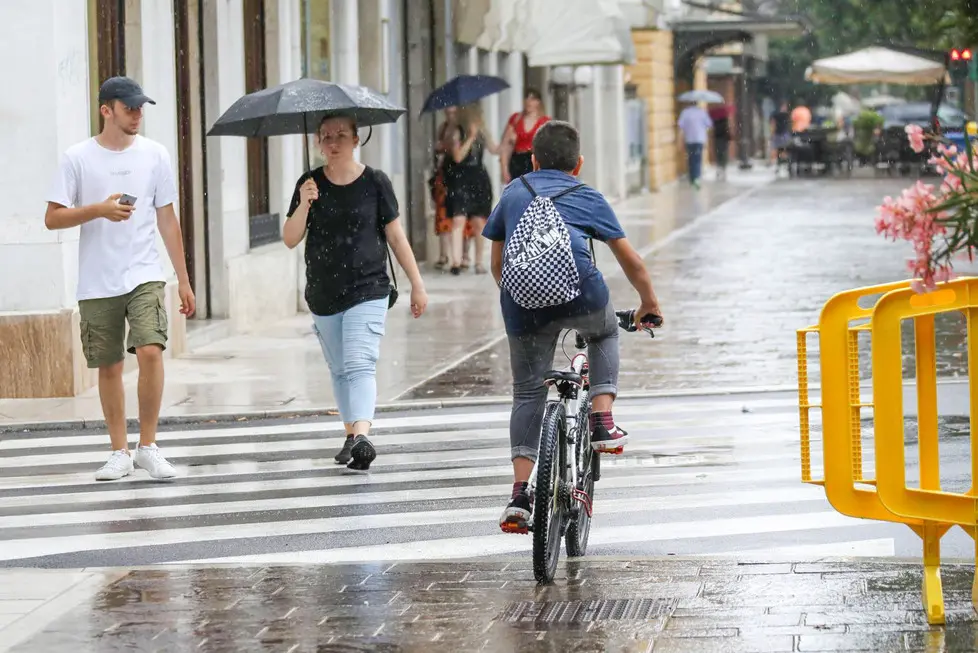
<svg viewBox="0 0 978 653">
<path fill-rule="evenodd" d="M 428 295 L 390 179 L 354 159 L 356 122 L 328 117 L 317 137 L 326 165 L 296 182 L 282 239 L 290 248 L 306 239 L 306 302 L 346 428 L 335 460 L 366 470 L 377 455 L 367 436 L 377 405 L 380 341 L 396 299 L 388 246 L 411 282 L 414 317 L 424 313 Z"/>
</svg>

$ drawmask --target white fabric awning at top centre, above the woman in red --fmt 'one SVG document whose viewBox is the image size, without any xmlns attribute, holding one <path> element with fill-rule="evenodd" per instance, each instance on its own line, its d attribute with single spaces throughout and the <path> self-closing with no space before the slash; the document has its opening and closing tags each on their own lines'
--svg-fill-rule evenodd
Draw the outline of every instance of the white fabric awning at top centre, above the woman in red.
<svg viewBox="0 0 978 653">
<path fill-rule="evenodd" d="M 456 25 L 482 20 L 479 37 L 465 42 L 524 52 L 531 66 L 635 62 L 631 29 L 618 0 L 491 0 L 488 11 L 476 0 L 457 0 L 455 10 L 471 14 L 456 16 Z"/>
</svg>

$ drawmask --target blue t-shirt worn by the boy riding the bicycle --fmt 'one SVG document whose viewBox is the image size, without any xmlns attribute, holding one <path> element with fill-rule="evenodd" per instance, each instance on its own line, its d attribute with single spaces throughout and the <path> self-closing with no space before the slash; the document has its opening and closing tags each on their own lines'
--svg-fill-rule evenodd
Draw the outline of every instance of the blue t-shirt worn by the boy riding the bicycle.
<svg viewBox="0 0 978 653">
<path fill-rule="evenodd" d="M 526 175 L 525 179 L 537 195 L 544 197 L 552 197 L 581 183 L 576 177 L 558 170 L 537 170 Z M 489 240 L 508 243 L 532 201 L 533 196 L 523 182 L 519 179 L 511 181 L 489 215 L 482 235 Z M 554 206 L 570 232 L 574 260 L 581 276 L 581 294 L 566 304 L 528 310 L 514 302 L 509 293 L 503 290 L 499 300 L 503 322 L 506 331 L 513 335 L 536 331 L 557 319 L 593 313 L 604 308 L 611 298 L 604 277 L 591 260 L 588 248 L 588 238 L 606 242 L 625 237 L 611 205 L 601 193 L 590 186 L 583 186 L 554 200 Z"/>
</svg>

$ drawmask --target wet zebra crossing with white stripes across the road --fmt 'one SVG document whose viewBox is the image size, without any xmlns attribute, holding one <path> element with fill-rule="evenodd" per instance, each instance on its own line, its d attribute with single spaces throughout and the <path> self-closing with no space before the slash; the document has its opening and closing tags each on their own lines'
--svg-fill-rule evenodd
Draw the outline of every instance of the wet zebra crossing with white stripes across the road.
<svg viewBox="0 0 978 653">
<path fill-rule="evenodd" d="M 892 554 L 885 525 L 839 515 L 800 483 L 793 397 L 622 401 L 615 413 L 631 444 L 602 458 L 590 555 Z M 378 418 L 369 474 L 333 463 L 335 419 L 165 431 L 183 473 L 169 482 L 138 469 L 94 481 L 104 433 L 3 434 L 0 566 L 528 555 L 530 538 L 497 526 L 508 418 L 500 407 Z"/>
</svg>

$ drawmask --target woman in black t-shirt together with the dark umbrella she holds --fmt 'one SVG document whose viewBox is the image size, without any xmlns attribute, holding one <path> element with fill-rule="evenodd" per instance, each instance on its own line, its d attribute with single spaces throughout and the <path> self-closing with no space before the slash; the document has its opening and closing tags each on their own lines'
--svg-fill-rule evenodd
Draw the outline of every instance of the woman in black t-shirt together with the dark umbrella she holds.
<svg viewBox="0 0 978 653">
<path fill-rule="evenodd" d="M 335 460 L 354 470 L 369 469 L 377 455 L 367 434 L 377 404 L 380 340 L 397 301 L 388 247 L 411 281 L 411 313 L 418 318 L 428 305 L 390 179 L 354 158 L 359 126 L 396 122 L 404 112 L 367 87 L 302 78 L 239 98 L 208 131 L 316 134 L 326 165 L 309 170 L 306 153 L 307 172 L 296 182 L 282 240 L 289 248 L 306 241 L 306 303 L 346 427 Z"/>
</svg>

